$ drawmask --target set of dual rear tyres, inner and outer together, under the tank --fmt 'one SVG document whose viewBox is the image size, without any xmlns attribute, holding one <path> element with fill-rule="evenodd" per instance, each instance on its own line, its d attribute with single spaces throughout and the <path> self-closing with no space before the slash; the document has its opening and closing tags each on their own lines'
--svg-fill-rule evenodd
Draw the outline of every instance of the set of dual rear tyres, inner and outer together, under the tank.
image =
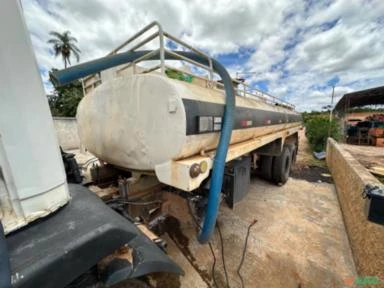
<svg viewBox="0 0 384 288">
<path fill-rule="evenodd" d="M 261 156 L 261 177 L 276 184 L 285 184 L 296 161 L 296 153 L 296 145 L 286 144 L 279 156 Z"/>
</svg>

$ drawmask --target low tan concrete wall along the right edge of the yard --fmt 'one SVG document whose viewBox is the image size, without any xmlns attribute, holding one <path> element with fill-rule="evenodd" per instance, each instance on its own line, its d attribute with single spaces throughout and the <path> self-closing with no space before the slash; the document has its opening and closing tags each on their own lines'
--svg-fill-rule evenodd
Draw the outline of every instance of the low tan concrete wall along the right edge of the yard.
<svg viewBox="0 0 384 288">
<path fill-rule="evenodd" d="M 330 138 L 327 164 L 336 185 L 358 274 L 384 277 L 384 226 L 367 220 L 366 200 L 361 195 L 366 184 L 380 187 L 383 184 Z"/>
</svg>

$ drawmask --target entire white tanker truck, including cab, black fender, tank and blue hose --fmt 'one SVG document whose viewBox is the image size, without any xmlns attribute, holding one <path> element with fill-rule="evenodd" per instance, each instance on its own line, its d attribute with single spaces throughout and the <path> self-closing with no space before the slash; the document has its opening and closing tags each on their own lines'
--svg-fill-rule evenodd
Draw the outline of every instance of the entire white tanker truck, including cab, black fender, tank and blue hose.
<svg viewBox="0 0 384 288">
<path fill-rule="evenodd" d="M 106 205 L 87 188 L 67 185 L 18 2 L 1 1 L 0 16 L 0 287 L 83 287 L 85 272 L 107 285 L 182 274 L 152 232 L 166 217 L 164 189 L 195 205 L 204 243 L 221 196 L 230 206 L 240 201 L 251 169 L 287 181 L 301 128 L 294 107 L 231 80 L 220 63 L 155 22 L 108 57 L 52 75 L 58 83 L 82 79 L 79 136 L 100 162 L 92 179 L 100 187 L 108 179 L 116 190 Z M 158 49 L 137 51 L 157 37 Z M 188 51 L 167 49 L 165 38 Z M 157 64 L 137 65 L 145 60 Z M 171 60 L 208 76 L 178 71 Z"/>
</svg>

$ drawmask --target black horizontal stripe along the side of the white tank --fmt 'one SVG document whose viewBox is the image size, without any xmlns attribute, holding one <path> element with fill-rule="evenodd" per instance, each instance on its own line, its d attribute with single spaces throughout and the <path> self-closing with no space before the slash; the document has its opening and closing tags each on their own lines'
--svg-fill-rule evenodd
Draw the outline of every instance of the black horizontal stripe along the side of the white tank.
<svg viewBox="0 0 384 288">
<path fill-rule="evenodd" d="M 183 104 L 187 121 L 187 135 L 213 132 L 213 130 L 204 132 L 201 132 L 201 130 L 199 131 L 200 119 L 212 117 L 212 119 L 214 119 L 213 121 L 217 121 L 217 119 L 213 117 L 222 118 L 224 114 L 224 104 L 220 103 L 183 98 Z M 236 107 L 233 129 L 246 129 L 301 121 L 302 118 L 300 114 Z M 219 130 L 220 129 L 215 129 L 215 131 Z"/>
</svg>

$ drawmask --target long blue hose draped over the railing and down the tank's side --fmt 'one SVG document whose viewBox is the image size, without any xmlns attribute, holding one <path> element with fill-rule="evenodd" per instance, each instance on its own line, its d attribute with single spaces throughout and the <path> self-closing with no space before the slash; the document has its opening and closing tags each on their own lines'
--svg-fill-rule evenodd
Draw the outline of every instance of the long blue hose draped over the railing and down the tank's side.
<svg viewBox="0 0 384 288">
<path fill-rule="evenodd" d="M 106 56 L 100 59 L 96 59 L 90 62 L 79 64 L 68 69 L 54 71 L 51 73 L 51 79 L 58 85 L 65 85 L 74 80 L 83 78 L 90 74 L 97 73 L 102 70 L 106 70 L 121 64 L 129 63 L 138 59 L 145 54 L 152 51 L 137 51 L 137 52 L 125 52 L 116 55 Z M 188 57 L 196 62 L 204 65 L 208 65 L 208 59 L 202 57 L 193 52 L 175 51 L 178 54 Z M 146 60 L 157 60 L 159 55 L 153 55 Z M 175 56 L 165 52 L 165 59 L 167 60 L 180 60 Z M 225 109 L 223 124 L 221 128 L 219 145 L 216 150 L 215 159 L 212 167 L 211 185 L 209 188 L 208 204 L 205 211 L 203 227 L 198 235 L 200 243 L 207 243 L 211 237 L 216 224 L 217 214 L 220 205 L 220 193 L 223 184 L 223 174 L 225 167 L 225 160 L 227 157 L 228 146 L 231 140 L 234 113 L 235 113 L 235 93 L 233 90 L 232 80 L 227 70 L 218 61 L 212 59 L 213 69 L 220 75 L 225 89 Z"/>
</svg>

